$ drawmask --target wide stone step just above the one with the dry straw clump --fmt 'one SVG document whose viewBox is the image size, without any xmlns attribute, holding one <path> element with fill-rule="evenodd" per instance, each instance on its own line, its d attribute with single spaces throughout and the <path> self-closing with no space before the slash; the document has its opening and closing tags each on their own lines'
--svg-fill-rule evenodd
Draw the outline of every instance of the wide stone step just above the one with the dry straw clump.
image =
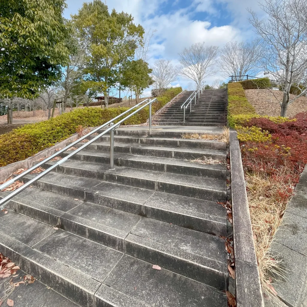
<svg viewBox="0 0 307 307">
<path fill-rule="evenodd" d="M 164 124 L 163 124 L 164 125 Z M 176 126 L 174 124 L 174 126 Z M 188 125 L 187 125 L 188 126 Z M 82 143 L 76 145 L 76 147 L 81 146 Z M 109 142 L 93 142 L 87 146 L 88 150 L 97 150 L 110 152 Z M 140 145 L 140 144 L 125 144 L 117 143 L 114 145 L 114 152 L 116 153 L 132 153 L 137 155 L 153 156 L 153 157 L 167 157 L 174 159 L 186 159 L 194 160 L 201 157 L 212 157 L 212 159 L 225 160 L 226 151 L 223 150 L 211 150 L 202 148 L 185 148 L 177 146 L 150 146 L 150 145 Z"/>
</svg>

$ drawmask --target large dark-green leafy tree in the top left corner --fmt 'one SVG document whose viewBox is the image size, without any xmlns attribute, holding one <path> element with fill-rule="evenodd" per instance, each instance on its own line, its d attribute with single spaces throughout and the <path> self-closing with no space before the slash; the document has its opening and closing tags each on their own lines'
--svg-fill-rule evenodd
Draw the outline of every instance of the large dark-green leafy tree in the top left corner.
<svg viewBox="0 0 307 307">
<path fill-rule="evenodd" d="M 0 96 L 36 98 L 70 53 L 64 0 L 0 0 Z M 9 114 L 10 123 L 12 114 Z"/>
</svg>

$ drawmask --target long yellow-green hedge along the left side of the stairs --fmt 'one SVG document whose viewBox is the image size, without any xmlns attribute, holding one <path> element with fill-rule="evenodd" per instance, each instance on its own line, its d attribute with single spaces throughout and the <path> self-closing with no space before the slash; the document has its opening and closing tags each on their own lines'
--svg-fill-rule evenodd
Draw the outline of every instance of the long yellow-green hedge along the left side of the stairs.
<svg viewBox="0 0 307 307">
<path fill-rule="evenodd" d="M 163 94 L 158 96 L 158 102 L 152 105 L 153 114 L 181 91 L 181 87 L 175 87 L 166 90 Z M 128 109 L 129 107 L 76 109 L 55 118 L 34 124 L 27 124 L 9 133 L 2 134 L 0 135 L 0 166 L 24 160 L 54 145 L 56 142 L 68 138 L 76 132 L 79 125 L 82 125 L 84 128 L 100 126 Z M 127 115 L 128 114 L 125 116 Z M 146 122 L 148 117 L 149 107 L 146 107 L 137 114 L 131 116 L 123 124 L 142 124 Z"/>
</svg>

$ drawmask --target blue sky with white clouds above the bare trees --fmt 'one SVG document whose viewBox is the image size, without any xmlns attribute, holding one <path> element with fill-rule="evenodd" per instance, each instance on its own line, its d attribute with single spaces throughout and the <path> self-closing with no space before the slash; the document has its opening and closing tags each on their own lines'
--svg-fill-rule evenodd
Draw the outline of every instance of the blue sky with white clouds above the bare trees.
<svg viewBox="0 0 307 307">
<path fill-rule="evenodd" d="M 76 14 L 82 0 L 66 0 L 64 17 Z M 178 52 L 193 43 L 222 47 L 232 40 L 251 40 L 255 33 L 247 18 L 247 8 L 261 16 L 257 0 L 107 0 L 111 11 L 132 14 L 145 30 L 157 29 L 150 43 L 149 64 L 157 58 L 178 64 Z M 206 80 L 224 79 L 221 73 Z M 187 86 L 191 80 L 179 77 L 173 85 Z"/>
</svg>

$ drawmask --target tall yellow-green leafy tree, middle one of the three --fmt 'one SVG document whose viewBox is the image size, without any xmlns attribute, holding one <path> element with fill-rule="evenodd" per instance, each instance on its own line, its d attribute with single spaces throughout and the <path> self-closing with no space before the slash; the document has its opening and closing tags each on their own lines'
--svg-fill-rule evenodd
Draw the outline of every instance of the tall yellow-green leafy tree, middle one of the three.
<svg viewBox="0 0 307 307">
<path fill-rule="evenodd" d="M 84 73 L 88 81 L 95 82 L 95 89 L 99 87 L 104 93 L 106 107 L 110 88 L 116 84 L 115 71 L 134 57 L 135 49 L 142 43 L 144 29 L 133 20 L 131 15 L 114 9 L 109 14 L 100 0 L 85 2 L 72 16 L 87 54 Z"/>
</svg>

